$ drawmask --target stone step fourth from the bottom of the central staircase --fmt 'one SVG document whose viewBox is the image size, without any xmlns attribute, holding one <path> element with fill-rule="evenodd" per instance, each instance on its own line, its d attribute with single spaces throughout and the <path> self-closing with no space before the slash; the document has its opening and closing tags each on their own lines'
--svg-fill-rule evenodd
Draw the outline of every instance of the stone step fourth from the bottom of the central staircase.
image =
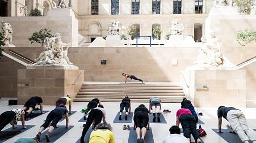
<svg viewBox="0 0 256 143">
<path fill-rule="evenodd" d="M 152 89 L 80 89 L 79 92 L 124 92 L 124 93 L 183 93 L 183 90 L 152 90 Z"/>
</svg>

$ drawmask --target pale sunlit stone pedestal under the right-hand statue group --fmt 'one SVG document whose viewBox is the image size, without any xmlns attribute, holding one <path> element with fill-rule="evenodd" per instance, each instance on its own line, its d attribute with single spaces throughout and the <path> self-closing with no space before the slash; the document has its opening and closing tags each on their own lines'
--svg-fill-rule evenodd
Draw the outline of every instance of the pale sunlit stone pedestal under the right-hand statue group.
<svg viewBox="0 0 256 143">
<path fill-rule="evenodd" d="M 182 74 L 184 93 L 195 107 L 246 107 L 245 70 L 186 70 Z"/>
</svg>

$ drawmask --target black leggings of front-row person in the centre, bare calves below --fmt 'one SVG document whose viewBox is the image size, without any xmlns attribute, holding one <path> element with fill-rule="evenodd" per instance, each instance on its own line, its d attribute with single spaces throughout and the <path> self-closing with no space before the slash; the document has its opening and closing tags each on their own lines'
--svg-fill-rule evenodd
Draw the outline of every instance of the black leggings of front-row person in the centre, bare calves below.
<svg viewBox="0 0 256 143">
<path fill-rule="evenodd" d="M 136 112 L 133 121 L 135 122 L 136 128 L 146 128 L 149 122 L 149 116 L 145 112 Z"/>
</svg>

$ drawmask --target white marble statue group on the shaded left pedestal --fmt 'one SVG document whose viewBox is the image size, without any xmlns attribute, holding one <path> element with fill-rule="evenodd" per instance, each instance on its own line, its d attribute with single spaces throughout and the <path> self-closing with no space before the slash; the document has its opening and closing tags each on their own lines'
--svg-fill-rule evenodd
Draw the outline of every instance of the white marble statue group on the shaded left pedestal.
<svg viewBox="0 0 256 143">
<path fill-rule="evenodd" d="M 73 65 L 68 58 L 69 45 L 61 41 L 61 34 L 56 33 L 55 37 L 45 38 L 44 51 L 35 59 L 34 65 L 57 64 L 62 66 Z M 64 50 L 63 48 L 66 47 Z"/>
</svg>

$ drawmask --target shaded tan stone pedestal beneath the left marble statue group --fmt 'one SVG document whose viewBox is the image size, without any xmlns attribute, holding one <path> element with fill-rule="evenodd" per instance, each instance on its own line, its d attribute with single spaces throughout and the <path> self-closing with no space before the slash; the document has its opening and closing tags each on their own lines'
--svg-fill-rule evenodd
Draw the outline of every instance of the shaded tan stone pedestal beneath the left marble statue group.
<svg viewBox="0 0 256 143">
<path fill-rule="evenodd" d="M 44 105 L 55 105 L 58 98 L 66 95 L 74 99 L 84 81 L 83 74 L 76 85 L 72 84 L 81 72 L 55 68 L 18 69 L 18 105 L 24 105 L 32 96 L 43 98 Z"/>
</svg>

